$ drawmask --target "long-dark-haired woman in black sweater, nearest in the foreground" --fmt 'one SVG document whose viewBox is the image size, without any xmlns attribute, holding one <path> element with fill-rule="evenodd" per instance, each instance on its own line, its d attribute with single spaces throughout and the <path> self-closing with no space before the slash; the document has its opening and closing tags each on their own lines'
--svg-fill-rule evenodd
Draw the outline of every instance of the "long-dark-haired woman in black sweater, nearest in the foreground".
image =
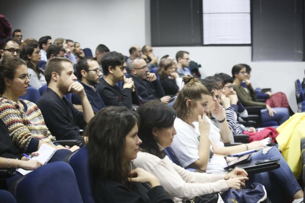
<svg viewBox="0 0 305 203">
<path fill-rule="evenodd" d="M 84 134 L 88 136 L 96 202 L 173 203 L 158 178 L 141 168 L 132 170 L 142 143 L 137 121 L 137 115 L 127 108 L 106 107 L 88 124 Z M 141 184 L 147 182 L 151 189 Z"/>
</svg>

